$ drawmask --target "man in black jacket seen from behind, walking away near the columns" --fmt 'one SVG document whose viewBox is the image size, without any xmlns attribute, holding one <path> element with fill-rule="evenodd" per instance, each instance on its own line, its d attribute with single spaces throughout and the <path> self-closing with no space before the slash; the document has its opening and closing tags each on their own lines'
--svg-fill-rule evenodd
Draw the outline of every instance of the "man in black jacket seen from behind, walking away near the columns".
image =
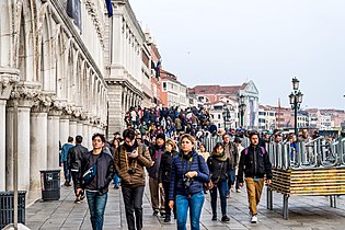
<svg viewBox="0 0 345 230">
<path fill-rule="evenodd" d="M 76 137 L 76 146 L 73 146 L 72 148 L 68 150 L 68 156 L 67 156 L 68 169 L 70 170 L 70 173 L 73 180 L 73 185 L 74 185 L 74 193 L 76 193 L 74 203 L 80 203 L 84 198 L 83 192 L 77 194 L 77 187 L 76 187 L 76 184 L 77 184 L 76 180 L 81 176 L 80 175 L 81 159 L 89 151 L 85 147 L 81 145 L 81 142 L 82 142 L 82 136 L 78 135 Z"/>
</svg>

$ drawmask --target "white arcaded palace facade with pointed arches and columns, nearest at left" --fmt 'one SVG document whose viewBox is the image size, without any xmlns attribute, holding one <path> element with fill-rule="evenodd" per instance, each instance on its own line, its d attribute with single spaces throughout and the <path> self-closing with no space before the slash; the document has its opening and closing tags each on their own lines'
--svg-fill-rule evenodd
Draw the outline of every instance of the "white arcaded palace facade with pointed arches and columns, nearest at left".
<svg viewBox="0 0 345 230">
<path fill-rule="evenodd" d="M 39 170 L 59 168 L 59 141 L 106 127 L 104 1 L 82 0 L 79 27 L 66 0 L 0 1 L 0 191 L 39 189 Z M 18 104 L 18 112 L 14 110 Z M 13 124 L 18 118 L 18 124 Z"/>
</svg>

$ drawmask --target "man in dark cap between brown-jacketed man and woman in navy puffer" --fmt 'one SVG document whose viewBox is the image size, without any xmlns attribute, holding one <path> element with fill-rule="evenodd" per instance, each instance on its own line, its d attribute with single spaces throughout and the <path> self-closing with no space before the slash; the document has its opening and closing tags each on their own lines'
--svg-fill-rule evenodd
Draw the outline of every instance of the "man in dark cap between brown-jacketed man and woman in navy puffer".
<svg viewBox="0 0 345 230">
<path fill-rule="evenodd" d="M 156 136 L 156 145 L 152 145 L 149 150 L 151 159 L 154 162 L 151 168 L 148 168 L 153 216 L 157 216 L 159 212 L 161 216 L 164 216 L 164 194 L 163 189 L 159 188 L 158 175 L 162 154 L 165 151 L 165 135 L 158 134 Z"/>
</svg>

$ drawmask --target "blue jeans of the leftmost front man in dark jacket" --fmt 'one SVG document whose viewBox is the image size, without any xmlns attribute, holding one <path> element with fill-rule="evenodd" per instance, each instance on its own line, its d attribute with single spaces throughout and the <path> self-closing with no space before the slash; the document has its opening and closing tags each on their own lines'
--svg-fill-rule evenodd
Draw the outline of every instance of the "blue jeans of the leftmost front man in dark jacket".
<svg viewBox="0 0 345 230">
<path fill-rule="evenodd" d="M 87 191 L 88 205 L 90 209 L 90 219 L 93 230 L 103 229 L 103 217 L 107 200 L 107 193 L 100 194 L 97 192 Z"/>
</svg>

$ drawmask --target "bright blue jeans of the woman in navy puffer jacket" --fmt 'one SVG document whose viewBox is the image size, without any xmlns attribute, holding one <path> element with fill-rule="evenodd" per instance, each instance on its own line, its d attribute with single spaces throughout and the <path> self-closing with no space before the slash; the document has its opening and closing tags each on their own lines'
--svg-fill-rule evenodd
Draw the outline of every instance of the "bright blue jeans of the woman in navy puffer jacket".
<svg viewBox="0 0 345 230">
<path fill-rule="evenodd" d="M 177 214 L 177 230 L 186 230 L 186 222 L 187 222 L 187 212 L 188 208 L 189 216 L 191 216 L 191 229 L 192 230 L 199 230 L 199 221 L 204 205 L 204 191 L 194 194 L 193 196 L 183 196 L 176 195 L 176 214 Z"/>
</svg>

